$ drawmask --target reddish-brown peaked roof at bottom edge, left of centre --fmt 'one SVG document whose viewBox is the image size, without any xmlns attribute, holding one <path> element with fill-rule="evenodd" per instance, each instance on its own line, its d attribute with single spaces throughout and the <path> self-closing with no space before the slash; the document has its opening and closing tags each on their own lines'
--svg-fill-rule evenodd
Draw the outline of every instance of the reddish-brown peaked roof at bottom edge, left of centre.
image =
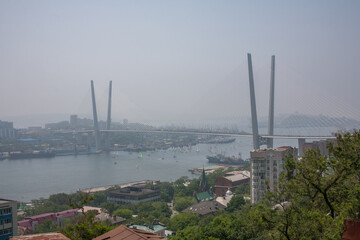
<svg viewBox="0 0 360 240">
<path fill-rule="evenodd" d="M 133 229 L 125 227 L 121 225 L 93 240 L 142 240 L 142 239 L 149 239 L 149 240 L 157 240 L 157 239 L 164 239 L 155 233 L 146 232 L 139 229 Z"/>
</svg>

